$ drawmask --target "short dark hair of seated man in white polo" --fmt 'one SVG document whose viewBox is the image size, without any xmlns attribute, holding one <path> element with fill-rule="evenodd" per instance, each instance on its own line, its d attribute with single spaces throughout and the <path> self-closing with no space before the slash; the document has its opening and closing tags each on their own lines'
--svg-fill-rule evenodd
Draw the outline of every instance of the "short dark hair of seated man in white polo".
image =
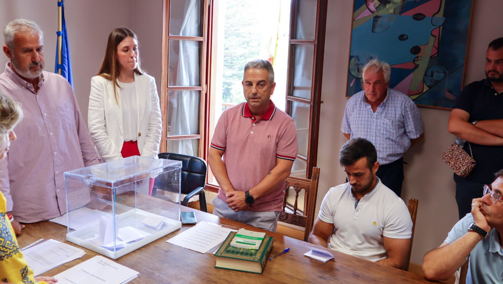
<svg viewBox="0 0 503 284">
<path fill-rule="evenodd" d="M 368 168 L 372 168 L 377 161 L 377 151 L 369 140 L 354 138 L 342 145 L 339 152 L 341 166 L 354 165 L 361 158 L 367 158 Z"/>
</svg>

